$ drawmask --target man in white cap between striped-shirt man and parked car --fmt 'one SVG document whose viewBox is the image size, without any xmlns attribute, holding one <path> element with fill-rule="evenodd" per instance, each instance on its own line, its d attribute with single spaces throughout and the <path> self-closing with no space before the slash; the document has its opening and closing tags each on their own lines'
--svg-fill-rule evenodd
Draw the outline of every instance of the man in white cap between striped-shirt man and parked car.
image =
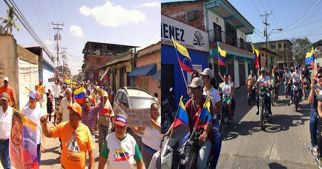
<svg viewBox="0 0 322 169">
<path fill-rule="evenodd" d="M 114 116 L 111 103 L 108 100 L 107 92 L 103 92 L 104 108 L 99 112 L 99 152 L 102 150 L 103 142 L 106 136 L 109 134 L 110 117 Z"/>
</svg>

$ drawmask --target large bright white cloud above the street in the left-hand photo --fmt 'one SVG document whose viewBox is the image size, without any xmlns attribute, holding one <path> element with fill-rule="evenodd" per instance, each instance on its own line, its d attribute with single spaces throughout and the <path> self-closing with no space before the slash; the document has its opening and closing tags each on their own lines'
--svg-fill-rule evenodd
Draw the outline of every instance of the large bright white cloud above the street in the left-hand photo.
<svg viewBox="0 0 322 169">
<path fill-rule="evenodd" d="M 79 8 L 84 16 L 92 16 L 96 19 L 96 22 L 105 27 L 117 28 L 119 26 L 125 26 L 127 23 L 145 22 L 146 16 L 141 11 L 127 10 L 121 6 L 116 6 L 107 1 L 103 6 L 97 6 L 89 8 L 83 6 Z"/>
</svg>

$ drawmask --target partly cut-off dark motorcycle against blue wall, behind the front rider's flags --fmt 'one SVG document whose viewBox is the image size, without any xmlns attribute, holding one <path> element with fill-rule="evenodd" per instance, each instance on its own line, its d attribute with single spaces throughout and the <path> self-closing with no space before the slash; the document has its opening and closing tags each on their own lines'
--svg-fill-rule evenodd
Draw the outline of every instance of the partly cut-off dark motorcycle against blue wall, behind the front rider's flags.
<svg viewBox="0 0 322 169">
<path fill-rule="evenodd" d="M 172 91 L 172 88 L 170 88 L 170 92 Z M 163 102 L 161 102 L 161 133 L 166 133 L 171 124 L 174 122 L 174 116 L 173 114 L 176 113 L 173 112 L 169 103 L 169 99 L 174 96 L 167 97 Z"/>
</svg>

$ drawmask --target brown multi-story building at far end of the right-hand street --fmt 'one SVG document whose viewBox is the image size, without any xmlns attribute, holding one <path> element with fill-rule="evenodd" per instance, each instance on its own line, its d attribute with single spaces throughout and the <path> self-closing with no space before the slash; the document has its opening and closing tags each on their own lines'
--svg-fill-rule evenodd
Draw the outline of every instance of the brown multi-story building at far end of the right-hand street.
<svg viewBox="0 0 322 169">
<path fill-rule="evenodd" d="M 284 68 L 286 66 L 291 67 L 294 65 L 294 60 L 292 56 L 292 48 L 293 44 L 290 40 L 278 40 L 278 41 L 269 41 L 267 42 L 259 42 L 256 45 L 260 46 L 261 48 L 267 48 L 270 51 L 280 54 L 277 58 L 277 65 L 279 68 Z"/>
</svg>

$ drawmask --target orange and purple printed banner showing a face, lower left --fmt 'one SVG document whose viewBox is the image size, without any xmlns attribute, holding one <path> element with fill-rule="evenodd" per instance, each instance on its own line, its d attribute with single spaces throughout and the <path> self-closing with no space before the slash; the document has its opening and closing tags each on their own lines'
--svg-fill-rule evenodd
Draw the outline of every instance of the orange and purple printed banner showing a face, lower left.
<svg viewBox="0 0 322 169">
<path fill-rule="evenodd" d="M 12 117 L 10 158 L 15 168 L 39 168 L 36 124 L 16 109 Z"/>
</svg>

